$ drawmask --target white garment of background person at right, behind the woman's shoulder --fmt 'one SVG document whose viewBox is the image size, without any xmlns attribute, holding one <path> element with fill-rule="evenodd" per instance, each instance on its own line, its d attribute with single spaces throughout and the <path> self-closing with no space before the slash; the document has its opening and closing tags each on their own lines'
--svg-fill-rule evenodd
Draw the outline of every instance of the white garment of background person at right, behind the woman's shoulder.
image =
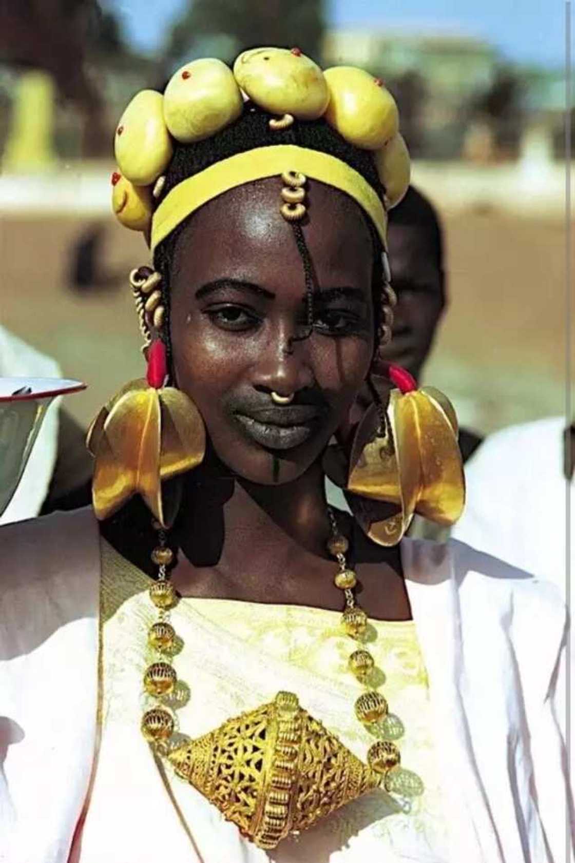
<svg viewBox="0 0 575 863">
<path fill-rule="evenodd" d="M 575 572 L 575 482 L 563 473 L 562 417 L 490 435 L 465 466 L 467 503 L 452 537 L 537 573 L 566 594 L 566 494 Z"/>
</svg>

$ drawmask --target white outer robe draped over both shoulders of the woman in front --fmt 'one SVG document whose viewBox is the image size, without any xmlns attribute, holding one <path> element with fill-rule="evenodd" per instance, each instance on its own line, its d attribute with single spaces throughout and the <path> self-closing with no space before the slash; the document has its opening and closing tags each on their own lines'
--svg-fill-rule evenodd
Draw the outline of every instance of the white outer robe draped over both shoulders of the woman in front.
<svg viewBox="0 0 575 863">
<path fill-rule="evenodd" d="M 559 592 L 458 542 L 404 540 L 401 557 L 445 765 L 450 861 L 566 863 L 565 751 L 553 706 L 566 630 Z M 0 860 L 67 863 L 98 769 L 92 511 L 3 528 L 0 559 Z M 118 753 L 118 769 L 126 766 Z M 124 863 L 155 863 L 148 829 L 153 811 L 142 812 Z M 202 863 L 261 860 L 235 830 L 195 829 Z M 199 860 L 190 851 L 171 863 Z"/>
</svg>

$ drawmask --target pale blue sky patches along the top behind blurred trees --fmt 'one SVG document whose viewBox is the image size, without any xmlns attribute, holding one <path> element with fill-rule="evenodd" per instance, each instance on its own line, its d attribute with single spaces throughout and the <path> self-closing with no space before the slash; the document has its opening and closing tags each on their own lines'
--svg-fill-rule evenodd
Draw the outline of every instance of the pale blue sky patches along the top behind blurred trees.
<svg viewBox="0 0 575 863">
<path fill-rule="evenodd" d="M 134 46 L 152 52 L 187 0 L 104 4 L 119 13 Z M 566 0 L 327 0 L 327 9 L 336 26 L 456 32 L 490 41 L 509 60 L 549 67 L 565 62 Z"/>
</svg>

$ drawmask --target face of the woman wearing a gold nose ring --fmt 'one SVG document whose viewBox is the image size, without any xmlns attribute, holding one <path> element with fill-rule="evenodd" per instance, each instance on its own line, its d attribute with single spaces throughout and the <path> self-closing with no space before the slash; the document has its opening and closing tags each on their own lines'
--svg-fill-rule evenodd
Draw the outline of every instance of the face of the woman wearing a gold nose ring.
<svg viewBox="0 0 575 863">
<path fill-rule="evenodd" d="M 281 180 L 240 186 L 197 211 L 176 244 L 171 338 L 177 386 L 219 459 L 250 482 L 290 482 L 347 417 L 374 350 L 373 243 L 357 205 L 309 182 L 313 331 Z M 277 405 L 272 392 L 294 395 Z"/>
</svg>

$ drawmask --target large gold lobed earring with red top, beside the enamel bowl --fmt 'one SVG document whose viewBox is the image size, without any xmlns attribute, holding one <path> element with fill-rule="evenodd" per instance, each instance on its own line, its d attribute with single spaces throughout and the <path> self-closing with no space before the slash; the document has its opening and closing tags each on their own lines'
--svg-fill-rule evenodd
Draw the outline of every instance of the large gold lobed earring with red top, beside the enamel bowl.
<svg viewBox="0 0 575 863">
<path fill-rule="evenodd" d="M 130 381 L 102 408 L 86 444 L 95 459 L 92 501 L 98 519 L 116 513 L 141 494 L 161 526 L 174 518 L 161 483 L 195 468 L 205 454 L 205 427 L 186 394 L 166 387 L 166 348 L 148 347 L 148 377 Z"/>
</svg>

